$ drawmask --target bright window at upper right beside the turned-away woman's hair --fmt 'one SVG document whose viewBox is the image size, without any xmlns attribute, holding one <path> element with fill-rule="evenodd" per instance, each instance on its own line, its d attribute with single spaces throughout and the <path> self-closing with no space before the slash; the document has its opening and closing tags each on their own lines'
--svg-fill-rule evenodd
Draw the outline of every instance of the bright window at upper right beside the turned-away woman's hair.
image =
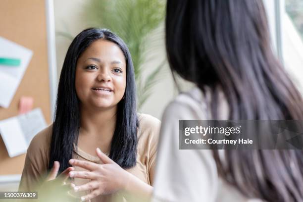
<svg viewBox="0 0 303 202">
<path fill-rule="evenodd" d="M 303 0 L 263 0 L 273 49 L 303 93 Z"/>
</svg>

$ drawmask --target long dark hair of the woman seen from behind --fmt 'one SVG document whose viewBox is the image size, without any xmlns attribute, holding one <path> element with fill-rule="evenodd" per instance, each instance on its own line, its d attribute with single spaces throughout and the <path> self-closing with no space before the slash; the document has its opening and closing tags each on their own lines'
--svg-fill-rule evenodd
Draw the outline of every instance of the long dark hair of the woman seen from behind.
<svg viewBox="0 0 303 202">
<path fill-rule="evenodd" d="M 172 72 L 210 87 L 213 119 L 221 89 L 229 119 L 303 120 L 302 96 L 271 50 L 262 0 L 168 0 L 165 29 Z M 302 150 L 225 150 L 224 163 L 213 154 L 219 175 L 244 195 L 303 201 Z"/>
</svg>

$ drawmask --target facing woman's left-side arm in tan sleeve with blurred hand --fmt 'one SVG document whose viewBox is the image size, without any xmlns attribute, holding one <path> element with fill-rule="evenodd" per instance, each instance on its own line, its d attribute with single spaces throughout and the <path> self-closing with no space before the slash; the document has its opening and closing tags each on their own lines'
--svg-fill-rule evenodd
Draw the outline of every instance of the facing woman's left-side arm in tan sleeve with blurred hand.
<svg viewBox="0 0 303 202">
<path fill-rule="evenodd" d="M 54 189 L 53 192 L 58 190 L 63 191 L 70 190 L 69 185 L 62 189 L 61 185 L 68 177 L 68 172 L 74 168 L 69 167 L 57 176 L 59 170 L 59 162 L 54 162 L 49 175 L 47 176 L 48 163 L 49 163 L 49 150 L 50 144 L 51 126 L 38 133 L 31 141 L 25 158 L 25 164 L 22 172 L 22 177 L 19 185 L 19 191 L 38 191 L 39 198 L 53 197 L 49 196 L 50 189 Z M 65 195 L 65 192 L 63 193 Z M 63 196 L 62 195 L 62 196 Z M 59 194 L 56 197 L 61 197 Z M 43 201 L 43 200 L 41 200 Z M 55 200 L 54 200 L 55 201 Z"/>
</svg>

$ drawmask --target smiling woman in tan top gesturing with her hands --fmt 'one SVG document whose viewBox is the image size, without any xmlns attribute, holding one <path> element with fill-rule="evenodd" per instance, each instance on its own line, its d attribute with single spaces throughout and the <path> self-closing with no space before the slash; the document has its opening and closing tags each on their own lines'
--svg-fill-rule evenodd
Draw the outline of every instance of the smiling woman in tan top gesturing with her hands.
<svg viewBox="0 0 303 202">
<path fill-rule="evenodd" d="M 72 178 L 82 201 L 107 202 L 118 191 L 150 195 L 159 125 L 137 114 L 125 43 L 108 30 L 86 29 L 66 53 L 54 122 L 32 140 L 20 190 L 43 186 L 51 169 L 46 181 L 57 173 Z"/>
</svg>

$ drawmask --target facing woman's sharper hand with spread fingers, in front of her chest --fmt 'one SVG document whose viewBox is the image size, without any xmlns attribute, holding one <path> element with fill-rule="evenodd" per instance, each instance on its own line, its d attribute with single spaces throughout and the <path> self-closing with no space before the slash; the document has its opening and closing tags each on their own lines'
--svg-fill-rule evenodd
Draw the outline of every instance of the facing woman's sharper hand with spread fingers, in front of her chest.
<svg viewBox="0 0 303 202">
<path fill-rule="evenodd" d="M 97 155 L 103 164 L 93 162 L 70 159 L 71 165 L 80 166 L 89 171 L 71 171 L 69 177 L 90 179 L 91 182 L 74 187 L 74 191 L 88 191 L 92 192 L 84 197 L 82 201 L 88 201 L 96 198 L 99 195 L 112 194 L 119 190 L 124 190 L 127 187 L 127 182 L 130 178 L 134 177 L 126 170 L 121 168 L 117 163 L 111 160 L 106 154 L 101 152 L 99 148 L 96 150 Z"/>
</svg>

